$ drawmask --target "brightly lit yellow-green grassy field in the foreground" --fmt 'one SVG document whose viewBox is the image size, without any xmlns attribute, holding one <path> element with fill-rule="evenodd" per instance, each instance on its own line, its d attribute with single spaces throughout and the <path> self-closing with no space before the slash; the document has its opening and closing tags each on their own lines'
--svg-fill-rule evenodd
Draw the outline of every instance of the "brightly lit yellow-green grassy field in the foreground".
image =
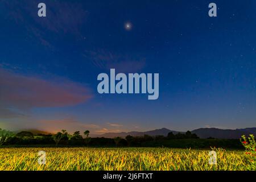
<svg viewBox="0 0 256 182">
<path fill-rule="evenodd" d="M 46 165 L 38 152 L 46 152 Z M 0 148 L 0 170 L 255 170 L 244 151 L 173 148 Z"/>
</svg>

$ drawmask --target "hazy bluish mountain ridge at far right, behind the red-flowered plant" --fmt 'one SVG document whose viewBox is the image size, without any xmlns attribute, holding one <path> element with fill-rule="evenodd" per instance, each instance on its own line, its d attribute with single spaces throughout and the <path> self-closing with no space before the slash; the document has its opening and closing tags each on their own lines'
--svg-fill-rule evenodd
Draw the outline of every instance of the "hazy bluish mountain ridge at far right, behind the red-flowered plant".
<svg viewBox="0 0 256 182">
<path fill-rule="evenodd" d="M 216 128 L 202 128 L 191 131 L 195 133 L 200 138 L 221 138 L 221 139 L 237 139 L 241 138 L 241 135 L 256 135 L 256 127 L 246 128 L 246 129 L 236 129 L 236 130 L 223 130 Z"/>
</svg>

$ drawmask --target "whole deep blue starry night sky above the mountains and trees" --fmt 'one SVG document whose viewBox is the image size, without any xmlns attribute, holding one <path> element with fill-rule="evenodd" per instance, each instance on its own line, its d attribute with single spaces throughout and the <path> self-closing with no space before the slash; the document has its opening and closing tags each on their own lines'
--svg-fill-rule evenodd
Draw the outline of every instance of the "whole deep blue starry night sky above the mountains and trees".
<svg viewBox="0 0 256 182">
<path fill-rule="evenodd" d="M 0 24 L 3 129 L 256 126 L 256 1 L 3 0 Z M 158 100 L 99 94 L 110 68 L 159 73 Z"/>
</svg>

